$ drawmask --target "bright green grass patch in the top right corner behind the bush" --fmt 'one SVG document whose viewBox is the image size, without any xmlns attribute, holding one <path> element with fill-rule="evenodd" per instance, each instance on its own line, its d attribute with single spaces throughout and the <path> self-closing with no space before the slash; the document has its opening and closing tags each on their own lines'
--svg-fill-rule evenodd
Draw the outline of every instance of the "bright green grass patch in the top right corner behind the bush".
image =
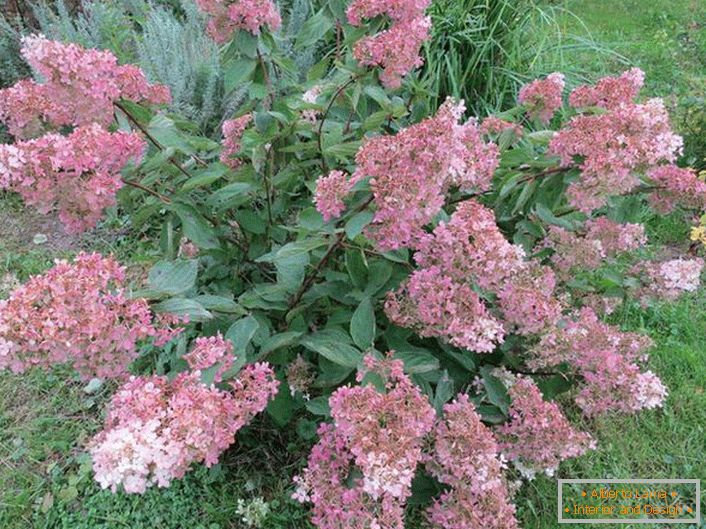
<svg viewBox="0 0 706 529">
<path fill-rule="evenodd" d="M 642 68 L 648 96 L 666 99 L 685 136 L 684 162 L 706 168 L 706 3 L 700 0 L 565 0 L 558 24 L 565 35 L 588 31 L 589 47 L 565 57 L 572 69 L 596 78 L 627 64 Z"/>
</svg>

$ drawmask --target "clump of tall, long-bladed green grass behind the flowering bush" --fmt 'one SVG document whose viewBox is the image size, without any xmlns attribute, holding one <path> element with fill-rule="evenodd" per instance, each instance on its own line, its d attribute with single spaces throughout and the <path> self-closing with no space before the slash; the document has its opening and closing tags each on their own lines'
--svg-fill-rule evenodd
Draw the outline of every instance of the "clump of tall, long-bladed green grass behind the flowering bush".
<svg viewBox="0 0 706 529">
<path fill-rule="evenodd" d="M 570 55 L 601 49 L 588 31 L 565 35 L 566 10 L 534 0 L 435 0 L 421 80 L 438 107 L 448 96 L 480 113 L 512 103 L 521 84 L 553 71 L 582 80 Z"/>
</svg>

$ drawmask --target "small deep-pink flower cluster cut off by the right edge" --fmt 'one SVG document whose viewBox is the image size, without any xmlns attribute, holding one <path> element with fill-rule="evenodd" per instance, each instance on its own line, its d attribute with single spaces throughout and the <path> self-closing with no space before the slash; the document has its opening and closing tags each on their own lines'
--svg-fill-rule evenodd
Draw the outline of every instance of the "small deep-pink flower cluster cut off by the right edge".
<svg viewBox="0 0 706 529">
<path fill-rule="evenodd" d="M 706 209 L 706 183 L 695 171 L 676 165 L 661 165 L 647 173 L 657 187 L 650 193 L 650 204 L 659 213 L 669 213 L 676 206 Z"/>
</svg>

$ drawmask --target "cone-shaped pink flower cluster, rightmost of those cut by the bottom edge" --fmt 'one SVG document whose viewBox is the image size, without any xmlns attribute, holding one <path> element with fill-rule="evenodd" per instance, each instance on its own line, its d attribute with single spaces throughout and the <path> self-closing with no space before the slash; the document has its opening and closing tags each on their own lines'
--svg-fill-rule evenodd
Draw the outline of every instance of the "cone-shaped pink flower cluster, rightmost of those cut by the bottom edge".
<svg viewBox="0 0 706 529">
<path fill-rule="evenodd" d="M 515 529 L 515 506 L 502 477 L 504 464 L 492 432 L 481 422 L 468 395 L 446 404 L 434 430 L 427 470 L 450 490 L 428 509 L 440 529 Z"/>
</svg>

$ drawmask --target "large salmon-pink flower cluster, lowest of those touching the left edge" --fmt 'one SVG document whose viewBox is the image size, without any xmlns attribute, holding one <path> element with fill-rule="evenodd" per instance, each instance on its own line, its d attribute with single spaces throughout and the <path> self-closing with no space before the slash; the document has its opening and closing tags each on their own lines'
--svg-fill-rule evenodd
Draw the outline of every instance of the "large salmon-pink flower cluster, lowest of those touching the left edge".
<svg viewBox="0 0 706 529">
<path fill-rule="evenodd" d="M 84 379 L 124 376 L 138 342 L 163 344 L 181 331 L 130 299 L 124 280 L 111 257 L 81 253 L 15 289 L 0 301 L 0 368 L 70 362 Z"/>
</svg>

